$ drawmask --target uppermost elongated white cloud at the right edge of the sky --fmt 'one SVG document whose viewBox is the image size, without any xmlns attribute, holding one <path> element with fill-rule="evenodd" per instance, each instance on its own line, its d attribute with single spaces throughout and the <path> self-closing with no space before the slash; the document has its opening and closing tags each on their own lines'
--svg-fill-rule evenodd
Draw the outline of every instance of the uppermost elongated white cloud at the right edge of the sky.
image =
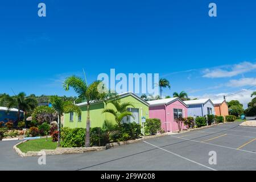
<svg viewBox="0 0 256 182">
<path fill-rule="evenodd" d="M 228 69 L 229 68 L 229 69 Z M 242 62 L 226 66 L 225 68 L 205 69 L 203 77 L 207 78 L 224 78 L 241 75 L 242 73 L 251 72 L 256 69 L 256 64 L 250 62 Z"/>
</svg>

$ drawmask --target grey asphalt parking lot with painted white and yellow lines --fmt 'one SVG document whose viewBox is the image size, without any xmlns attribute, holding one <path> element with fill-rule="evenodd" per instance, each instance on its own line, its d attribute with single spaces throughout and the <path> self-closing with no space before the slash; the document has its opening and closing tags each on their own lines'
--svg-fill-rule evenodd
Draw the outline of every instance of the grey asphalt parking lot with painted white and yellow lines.
<svg viewBox="0 0 256 182">
<path fill-rule="evenodd" d="M 84 154 L 20 158 L 0 142 L 0 170 L 256 170 L 256 127 L 225 123 Z M 217 164 L 209 164 L 209 152 Z"/>
</svg>

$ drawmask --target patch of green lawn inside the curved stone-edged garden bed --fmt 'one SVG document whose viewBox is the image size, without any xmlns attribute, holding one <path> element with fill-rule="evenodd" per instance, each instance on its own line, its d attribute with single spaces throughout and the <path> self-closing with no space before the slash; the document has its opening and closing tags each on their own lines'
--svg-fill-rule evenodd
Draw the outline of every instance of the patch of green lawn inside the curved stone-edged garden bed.
<svg viewBox="0 0 256 182">
<path fill-rule="evenodd" d="M 40 151 L 43 149 L 46 150 L 52 150 L 57 147 L 57 142 L 52 142 L 51 138 L 48 138 L 48 141 L 46 141 L 46 138 L 40 138 L 36 140 L 29 140 L 27 142 L 21 143 L 17 146 L 22 152 L 28 152 L 28 151 Z"/>
</svg>

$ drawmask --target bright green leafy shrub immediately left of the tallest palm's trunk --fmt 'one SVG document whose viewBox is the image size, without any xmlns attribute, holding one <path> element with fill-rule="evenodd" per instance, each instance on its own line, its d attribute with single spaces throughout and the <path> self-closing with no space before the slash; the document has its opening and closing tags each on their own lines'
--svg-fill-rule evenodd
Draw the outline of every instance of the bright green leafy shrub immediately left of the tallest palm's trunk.
<svg viewBox="0 0 256 182">
<path fill-rule="evenodd" d="M 64 127 L 61 130 L 61 147 L 83 147 L 85 144 L 85 129 L 69 129 Z"/>
</svg>

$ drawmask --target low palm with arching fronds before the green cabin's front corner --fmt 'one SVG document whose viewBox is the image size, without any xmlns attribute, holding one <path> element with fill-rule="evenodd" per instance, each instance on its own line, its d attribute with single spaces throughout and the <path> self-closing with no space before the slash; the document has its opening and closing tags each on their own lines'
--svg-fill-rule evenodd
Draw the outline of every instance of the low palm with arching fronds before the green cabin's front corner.
<svg viewBox="0 0 256 182">
<path fill-rule="evenodd" d="M 119 100 L 112 100 L 109 103 L 113 104 L 115 109 L 105 109 L 102 111 L 102 113 L 110 113 L 114 115 L 115 122 L 117 123 L 118 126 L 121 126 L 122 119 L 131 116 L 133 117 L 133 113 L 127 111 L 128 106 L 133 106 L 130 102 L 125 102 L 120 104 Z"/>
</svg>

